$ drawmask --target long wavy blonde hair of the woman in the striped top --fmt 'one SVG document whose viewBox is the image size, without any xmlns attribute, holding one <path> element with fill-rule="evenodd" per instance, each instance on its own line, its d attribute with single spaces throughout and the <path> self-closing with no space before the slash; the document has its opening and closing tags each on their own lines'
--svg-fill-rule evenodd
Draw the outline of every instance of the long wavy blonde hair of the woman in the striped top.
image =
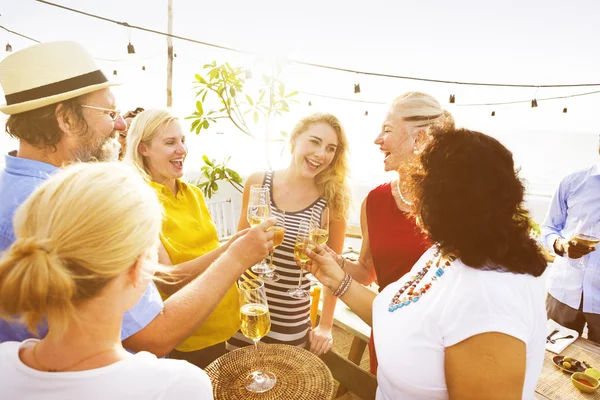
<svg viewBox="0 0 600 400">
<path fill-rule="evenodd" d="M 331 164 L 316 177 L 316 184 L 335 218 L 346 218 L 350 206 L 350 189 L 346 183 L 348 175 L 348 139 L 340 120 L 333 114 L 314 113 L 302 118 L 290 136 L 292 153 L 298 136 L 314 124 L 327 124 L 337 134 L 338 145 Z"/>
</svg>

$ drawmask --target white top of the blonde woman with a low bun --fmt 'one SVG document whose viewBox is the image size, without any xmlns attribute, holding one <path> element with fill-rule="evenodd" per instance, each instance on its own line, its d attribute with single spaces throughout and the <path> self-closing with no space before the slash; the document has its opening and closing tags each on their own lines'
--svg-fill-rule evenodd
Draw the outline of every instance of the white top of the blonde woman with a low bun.
<svg viewBox="0 0 600 400">
<path fill-rule="evenodd" d="M 137 353 L 112 365 L 78 372 L 42 372 L 23 364 L 19 349 L 37 340 L 0 344 L 0 398 L 19 400 L 212 400 L 210 379 L 180 360 Z"/>
</svg>

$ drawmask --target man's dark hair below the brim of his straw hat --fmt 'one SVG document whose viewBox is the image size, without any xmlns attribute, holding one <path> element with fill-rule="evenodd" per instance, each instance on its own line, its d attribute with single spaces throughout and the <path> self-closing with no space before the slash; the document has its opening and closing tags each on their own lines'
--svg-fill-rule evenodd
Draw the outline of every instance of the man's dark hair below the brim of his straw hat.
<svg viewBox="0 0 600 400">
<path fill-rule="evenodd" d="M 62 112 L 73 113 L 78 124 L 78 130 L 82 134 L 88 130 L 87 122 L 80 107 L 84 97 L 85 95 L 58 103 L 63 105 Z M 56 151 L 56 144 L 62 136 L 62 131 L 56 119 L 56 107 L 58 104 L 50 104 L 35 110 L 9 116 L 5 126 L 6 133 L 32 146 L 52 148 Z"/>
</svg>

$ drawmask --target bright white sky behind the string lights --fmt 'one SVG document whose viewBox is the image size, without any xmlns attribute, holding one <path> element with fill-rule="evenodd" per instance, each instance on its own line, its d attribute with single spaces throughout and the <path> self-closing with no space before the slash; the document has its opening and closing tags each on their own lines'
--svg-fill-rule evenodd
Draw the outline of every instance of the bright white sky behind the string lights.
<svg viewBox="0 0 600 400">
<path fill-rule="evenodd" d="M 167 29 L 167 0 L 56 0 L 56 2 L 160 31 Z M 351 69 L 426 78 L 476 82 L 567 84 L 600 83 L 600 2 L 597 0 L 481 0 L 364 2 L 304 0 L 201 2 L 174 0 L 174 33 L 224 46 L 245 49 L 267 57 L 286 57 Z M 100 65 L 125 84 L 117 89 L 119 106 L 164 106 L 166 89 L 166 39 L 133 30 L 135 56 L 126 52 L 125 28 L 37 3 L 33 0 L 0 0 L 0 24 L 38 40 L 78 40 L 96 57 L 126 60 Z M 31 42 L 0 32 L 3 49 L 10 41 L 17 50 Z M 184 117 L 193 111 L 193 74 L 212 60 L 252 68 L 255 76 L 268 70 L 265 58 L 175 40 L 174 110 Z M 3 53 L 2 56 L 6 55 Z M 141 66 L 146 71 L 141 71 Z M 117 78 L 117 77 L 114 77 Z M 598 146 L 600 94 L 559 101 L 510 106 L 456 107 L 564 96 L 600 90 L 506 89 L 428 84 L 398 79 L 356 77 L 309 67 L 288 65 L 288 87 L 329 96 L 389 102 L 407 90 L 434 95 L 455 116 L 459 125 L 500 138 L 515 154 L 533 192 L 550 194 L 566 173 L 594 162 Z M 361 93 L 353 93 L 360 82 Z M 382 156 L 372 140 L 383 120 L 385 105 L 367 105 L 301 95 L 299 103 L 277 124 L 278 132 L 291 130 L 303 115 L 324 110 L 345 125 L 353 150 L 353 175 L 365 181 L 385 179 Z M 313 106 L 308 107 L 308 101 Z M 562 114 L 568 107 L 568 114 Z M 368 110 L 369 116 L 364 112 Z M 496 112 L 491 117 L 491 111 Z M 225 132 L 216 135 L 216 132 Z M 258 127 L 261 132 L 261 127 Z M 2 135 L 0 144 L 6 144 Z M 190 134 L 190 136 L 194 136 Z M 247 140 L 227 124 L 216 126 L 200 138 L 188 168 L 200 165 L 199 156 L 233 155 L 232 165 L 242 172 L 265 167 L 258 156 L 262 145 Z M 245 149 L 257 146 L 250 154 Z M 279 151 L 273 149 L 274 165 Z M 537 186 L 536 186 L 537 185 Z M 533 187 L 535 186 L 535 188 Z"/>
</svg>

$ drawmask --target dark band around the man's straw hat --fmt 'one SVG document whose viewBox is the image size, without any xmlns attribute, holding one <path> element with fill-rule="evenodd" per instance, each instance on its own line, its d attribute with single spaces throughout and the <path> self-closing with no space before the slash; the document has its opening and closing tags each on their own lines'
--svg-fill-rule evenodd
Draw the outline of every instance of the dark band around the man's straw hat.
<svg viewBox="0 0 600 400">
<path fill-rule="evenodd" d="M 98 85 L 107 82 L 106 76 L 100 70 L 92 71 L 87 74 L 74 76 L 69 79 L 50 83 L 48 85 L 38 86 L 21 92 L 6 94 L 6 105 L 24 103 L 26 101 L 37 100 L 44 97 L 50 97 L 61 93 L 71 92 L 84 87 Z"/>
</svg>

